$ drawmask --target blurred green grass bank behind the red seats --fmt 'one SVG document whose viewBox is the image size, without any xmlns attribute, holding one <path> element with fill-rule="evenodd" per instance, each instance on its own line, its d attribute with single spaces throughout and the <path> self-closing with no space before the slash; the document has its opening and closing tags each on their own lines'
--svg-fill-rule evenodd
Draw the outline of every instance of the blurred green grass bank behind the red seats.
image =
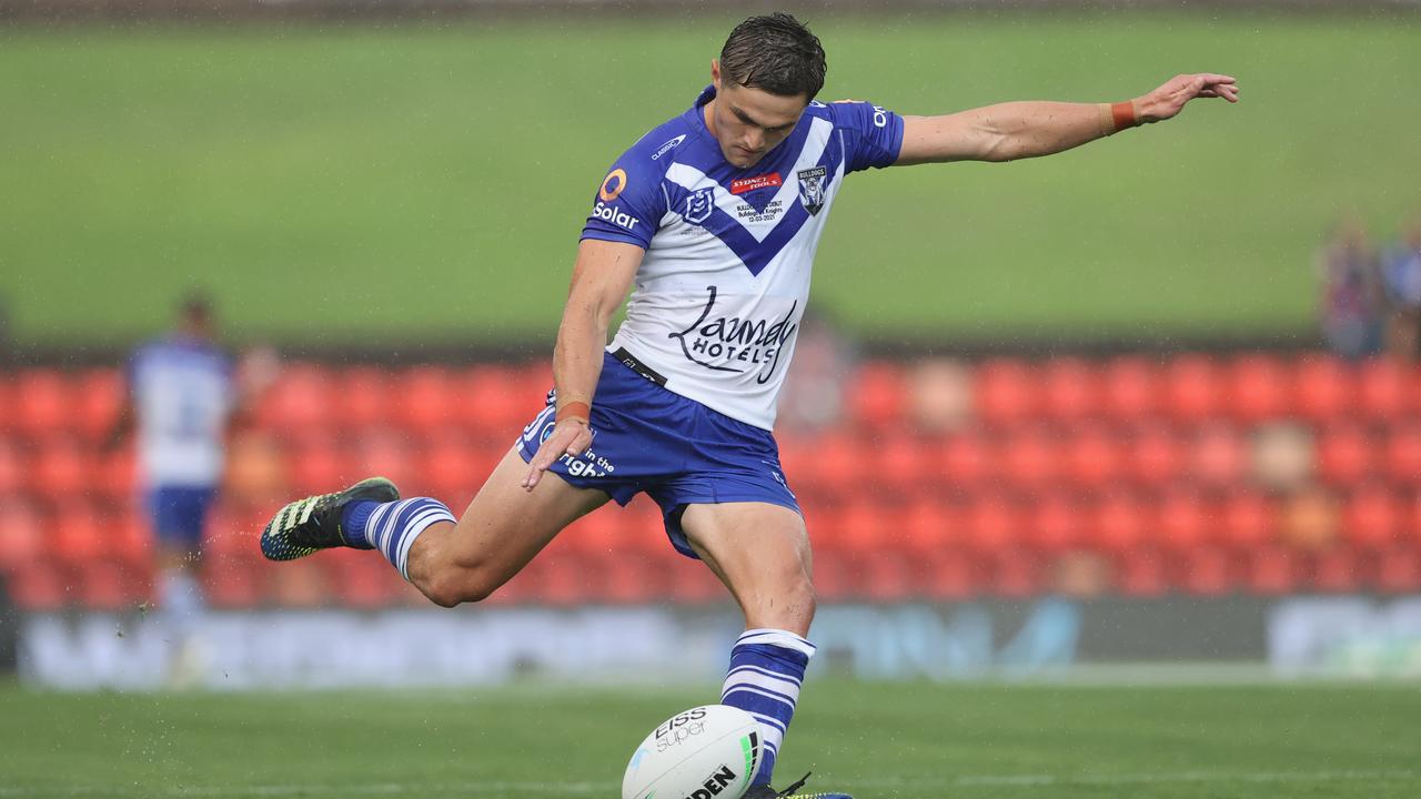
<svg viewBox="0 0 1421 799">
<path fill-rule="evenodd" d="M 0 297 L 23 344 L 124 343 L 212 287 L 237 338 L 553 338 L 607 163 L 737 17 L 0 28 Z M 1108 101 L 1194 70 L 1245 101 L 1012 165 L 851 179 L 816 301 L 861 334 L 1312 330 L 1339 209 L 1421 209 L 1421 17 L 807 17 L 826 98 Z"/>
</svg>

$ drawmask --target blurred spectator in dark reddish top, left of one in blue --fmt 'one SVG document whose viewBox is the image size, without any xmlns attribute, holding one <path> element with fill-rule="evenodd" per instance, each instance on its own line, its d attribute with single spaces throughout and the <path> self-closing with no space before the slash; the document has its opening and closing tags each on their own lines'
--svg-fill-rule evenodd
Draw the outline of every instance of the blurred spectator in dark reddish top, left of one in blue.
<svg viewBox="0 0 1421 799">
<path fill-rule="evenodd" d="M 1349 358 L 1366 358 L 1381 347 L 1381 273 L 1377 253 L 1360 219 L 1337 226 L 1319 253 L 1323 283 L 1322 323 L 1327 347 Z"/>
</svg>

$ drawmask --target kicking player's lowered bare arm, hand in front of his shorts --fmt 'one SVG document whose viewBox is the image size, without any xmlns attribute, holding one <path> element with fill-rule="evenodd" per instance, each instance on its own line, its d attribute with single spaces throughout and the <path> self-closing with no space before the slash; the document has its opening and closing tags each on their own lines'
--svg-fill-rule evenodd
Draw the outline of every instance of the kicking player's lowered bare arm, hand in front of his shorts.
<svg viewBox="0 0 1421 799">
<path fill-rule="evenodd" d="M 523 478 L 527 490 L 533 490 L 543 472 L 564 454 L 576 458 L 593 445 L 588 419 L 597 378 L 603 374 L 607 327 L 627 297 L 644 254 L 647 250 L 621 242 L 583 239 L 577 246 L 573 286 L 553 350 L 557 424 L 529 462 L 529 473 Z"/>
</svg>

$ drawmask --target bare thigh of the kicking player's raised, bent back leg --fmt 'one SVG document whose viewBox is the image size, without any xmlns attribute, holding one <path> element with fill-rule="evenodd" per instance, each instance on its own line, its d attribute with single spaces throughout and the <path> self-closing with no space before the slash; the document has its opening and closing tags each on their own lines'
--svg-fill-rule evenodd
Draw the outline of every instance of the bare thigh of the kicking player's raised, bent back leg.
<svg viewBox="0 0 1421 799">
<path fill-rule="evenodd" d="M 529 465 L 510 449 L 469 503 L 446 542 L 446 563 L 477 569 L 499 584 L 533 560 L 563 527 L 607 502 L 597 489 L 568 485 L 553 472 L 530 492 Z"/>
</svg>

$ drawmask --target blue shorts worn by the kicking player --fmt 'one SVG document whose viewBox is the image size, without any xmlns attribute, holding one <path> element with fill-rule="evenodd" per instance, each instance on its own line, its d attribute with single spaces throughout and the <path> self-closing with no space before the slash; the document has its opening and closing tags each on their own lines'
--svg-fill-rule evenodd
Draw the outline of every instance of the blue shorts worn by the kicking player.
<svg viewBox="0 0 1421 799">
<path fill-rule="evenodd" d="M 553 432 L 556 398 L 523 428 L 519 455 L 531 461 Z M 769 502 L 800 513 L 784 481 L 770 431 L 732 419 L 668 391 L 610 353 L 593 402 L 593 446 L 558 458 L 551 472 L 577 488 L 595 488 L 627 505 L 647 492 L 661 506 L 676 552 L 696 557 L 681 529 L 686 505 Z"/>
</svg>

